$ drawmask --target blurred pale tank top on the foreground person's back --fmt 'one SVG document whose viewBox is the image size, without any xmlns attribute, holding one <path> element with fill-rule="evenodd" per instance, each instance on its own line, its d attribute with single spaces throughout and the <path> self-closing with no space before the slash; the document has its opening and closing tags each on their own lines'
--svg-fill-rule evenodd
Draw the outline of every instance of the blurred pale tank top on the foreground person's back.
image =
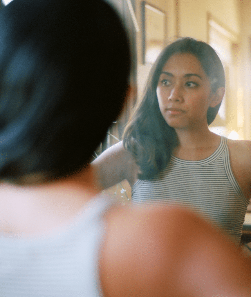
<svg viewBox="0 0 251 297">
<path fill-rule="evenodd" d="M 110 205 L 104 196 L 91 199 L 67 226 L 43 237 L 0 234 L 0 296 L 102 297 L 99 249 Z"/>
</svg>

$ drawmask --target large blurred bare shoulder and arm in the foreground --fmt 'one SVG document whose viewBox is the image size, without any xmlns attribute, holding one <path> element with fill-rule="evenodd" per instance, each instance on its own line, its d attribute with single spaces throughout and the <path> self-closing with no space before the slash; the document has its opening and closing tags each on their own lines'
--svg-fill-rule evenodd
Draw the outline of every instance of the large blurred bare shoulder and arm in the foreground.
<svg viewBox="0 0 251 297">
<path fill-rule="evenodd" d="M 237 248 L 187 210 L 119 208 L 106 219 L 100 253 L 106 297 L 167 296 L 167 292 L 168 296 L 199 296 L 198 288 L 204 296 L 220 296 L 218 283 L 227 289 L 239 282 L 239 274 L 244 277 L 238 270 L 243 261 Z M 236 271 L 234 276 L 231 271 Z"/>
</svg>

